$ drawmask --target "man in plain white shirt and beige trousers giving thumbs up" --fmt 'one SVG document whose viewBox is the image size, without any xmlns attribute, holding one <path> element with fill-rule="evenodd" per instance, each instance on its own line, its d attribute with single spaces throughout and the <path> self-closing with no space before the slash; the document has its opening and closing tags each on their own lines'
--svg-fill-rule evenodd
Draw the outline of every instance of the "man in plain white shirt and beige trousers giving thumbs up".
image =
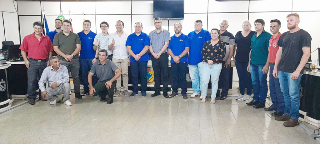
<svg viewBox="0 0 320 144">
<path fill-rule="evenodd" d="M 113 52 L 112 61 L 116 66 L 121 70 L 123 77 L 123 89 L 124 95 L 129 96 L 128 92 L 128 64 L 130 62 L 129 53 L 127 51 L 127 46 L 125 45 L 128 34 L 123 31 L 124 23 L 121 20 L 116 22 L 115 33 L 110 34 L 109 36 L 109 50 Z M 117 79 L 116 83 L 116 92 L 113 96 L 121 95 L 121 76 Z"/>
</svg>

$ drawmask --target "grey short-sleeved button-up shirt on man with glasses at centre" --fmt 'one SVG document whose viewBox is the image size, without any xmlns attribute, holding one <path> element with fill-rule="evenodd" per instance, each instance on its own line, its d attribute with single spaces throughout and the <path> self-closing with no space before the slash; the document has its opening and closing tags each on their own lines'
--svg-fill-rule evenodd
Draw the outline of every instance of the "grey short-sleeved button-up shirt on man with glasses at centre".
<svg viewBox="0 0 320 144">
<path fill-rule="evenodd" d="M 160 33 L 157 33 L 156 30 L 151 31 L 149 33 L 149 37 L 150 37 L 150 44 L 152 46 L 153 52 L 155 53 L 160 52 L 162 47 L 164 46 L 164 43 L 171 40 L 170 32 L 163 28 L 161 28 Z M 163 53 L 165 52 L 167 52 L 167 50 L 165 50 Z"/>
</svg>

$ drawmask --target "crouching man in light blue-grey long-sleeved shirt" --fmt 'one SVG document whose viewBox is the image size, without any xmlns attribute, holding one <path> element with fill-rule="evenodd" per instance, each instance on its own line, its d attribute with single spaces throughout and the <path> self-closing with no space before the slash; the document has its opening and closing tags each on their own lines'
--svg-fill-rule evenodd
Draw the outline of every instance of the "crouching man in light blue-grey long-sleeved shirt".
<svg viewBox="0 0 320 144">
<path fill-rule="evenodd" d="M 39 80 L 39 89 L 41 97 L 50 101 L 51 105 L 56 104 L 57 95 L 63 94 L 62 100 L 67 106 L 71 106 L 70 84 L 68 69 L 64 65 L 60 65 L 58 57 L 53 56 L 49 59 L 50 67 L 44 69 Z M 44 84 L 48 82 L 49 87 L 45 88 Z"/>
</svg>

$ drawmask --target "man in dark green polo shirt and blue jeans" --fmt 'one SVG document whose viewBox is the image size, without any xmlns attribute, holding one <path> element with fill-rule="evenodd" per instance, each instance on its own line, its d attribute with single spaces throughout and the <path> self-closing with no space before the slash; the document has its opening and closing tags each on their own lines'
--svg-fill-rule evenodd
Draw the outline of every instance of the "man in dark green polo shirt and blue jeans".
<svg viewBox="0 0 320 144">
<path fill-rule="evenodd" d="M 266 107 L 268 93 L 267 74 L 269 70 L 269 40 L 271 34 L 264 30 L 265 22 L 262 19 L 254 21 L 254 29 L 257 34 L 251 38 L 251 51 L 247 71 L 252 78 L 253 100 L 248 102 L 248 106 L 253 108 Z"/>
</svg>

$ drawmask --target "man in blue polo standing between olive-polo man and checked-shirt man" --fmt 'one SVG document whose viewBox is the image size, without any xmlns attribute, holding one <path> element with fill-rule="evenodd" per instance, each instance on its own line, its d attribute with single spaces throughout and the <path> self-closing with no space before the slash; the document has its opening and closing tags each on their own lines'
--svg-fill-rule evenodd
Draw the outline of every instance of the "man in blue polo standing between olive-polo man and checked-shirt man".
<svg viewBox="0 0 320 144">
<path fill-rule="evenodd" d="M 90 20 L 84 20 L 83 22 L 83 31 L 78 33 L 78 36 L 81 41 L 81 50 L 80 50 L 80 68 L 82 71 L 82 81 L 84 91 L 81 93 L 81 97 L 89 94 L 89 83 L 88 83 L 88 74 L 92 67 L 92 64 L 97 61 L 98 50 L 93 50 L 93 40 L 97 35 L 96 33 L 90 30 L 91 22 Z M 81 75 L 81 74 L 80 74 Z M 92 84 L 93 86 L 97 83 L 97 76 L 93 75 Z"/>
</svg>

